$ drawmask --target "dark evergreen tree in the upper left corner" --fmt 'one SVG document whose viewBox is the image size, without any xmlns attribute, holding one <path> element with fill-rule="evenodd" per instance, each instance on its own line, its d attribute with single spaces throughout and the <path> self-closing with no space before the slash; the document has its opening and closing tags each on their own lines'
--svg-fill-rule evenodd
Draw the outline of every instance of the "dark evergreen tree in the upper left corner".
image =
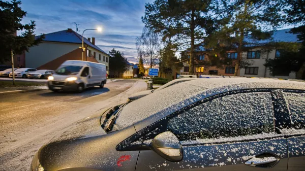
<svg viewBox="0 0 305 171">
<path fill-rule="evenodd" d="M 16 0 L 0 1 L 0 62 L 11 60 L 11 51 L 14 54 L 21 54 L 44 39 L 44 35 L 35 39 L 35 21 L 21 24 L 26 12 L 20 5 L 21 2 Z M 17 31 L 22 31 L 20 36 L 16 36 Z"/>
</svg>

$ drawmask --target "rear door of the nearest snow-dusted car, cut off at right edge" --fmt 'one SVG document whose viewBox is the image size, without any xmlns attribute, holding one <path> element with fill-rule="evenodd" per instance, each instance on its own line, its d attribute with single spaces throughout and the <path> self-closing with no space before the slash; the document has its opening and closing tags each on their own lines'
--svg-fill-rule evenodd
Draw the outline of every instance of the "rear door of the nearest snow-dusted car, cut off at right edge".
<svg viewBox="0 0 305 171">
<path fill-rule="evenodd" d="M 288 171 L 305 169 L 305 91 L 284 90 L 292 129 L 288 136 Z"/>
</svg>

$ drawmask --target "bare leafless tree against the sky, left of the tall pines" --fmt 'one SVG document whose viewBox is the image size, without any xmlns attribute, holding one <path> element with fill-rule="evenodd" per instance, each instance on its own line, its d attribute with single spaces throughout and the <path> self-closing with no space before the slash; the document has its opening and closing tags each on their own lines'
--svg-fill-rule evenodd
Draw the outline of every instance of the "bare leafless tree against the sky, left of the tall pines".
<svg viewBox="0 0 305 171">
<path fill-rule="evenodd" d="M 136 46 L 138 57 L 149 61 L 150 68 L 156 64 L 159 57 L 161 41 L 157 33 L 146 27 L 143 28 L 141 37 L 137 37 Z"/>
</svg>

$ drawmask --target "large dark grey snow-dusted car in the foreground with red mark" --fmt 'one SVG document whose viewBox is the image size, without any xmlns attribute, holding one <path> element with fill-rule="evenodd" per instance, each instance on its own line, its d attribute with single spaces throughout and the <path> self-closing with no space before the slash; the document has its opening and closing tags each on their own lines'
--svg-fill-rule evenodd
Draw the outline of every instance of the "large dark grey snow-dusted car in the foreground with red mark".
<svg viewBox="0 0 305 171">
<path fill-rule="evenodd" d="M 31 170 L 302 170 L 304 113 L 303 82 L 195 79 L 75 123 Z"/>
</svg>

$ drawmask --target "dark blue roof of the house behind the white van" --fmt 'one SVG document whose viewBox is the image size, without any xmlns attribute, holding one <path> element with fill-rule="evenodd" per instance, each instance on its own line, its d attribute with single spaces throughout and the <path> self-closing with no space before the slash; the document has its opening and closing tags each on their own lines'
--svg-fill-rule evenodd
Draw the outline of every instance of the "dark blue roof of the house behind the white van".
<svg viewBox="0 0 305 171">
<path fill-rule="evenodd" d="M 37 36 L 36 38 L 38 38 Z M 67 30 L 57 31 L 57 32 L 51 32 L 45 35 L 45 39 L 43 41 L 47 42 L 65 42 L 65 43 L 82 43 L 82 36 L 79 35 L 79 33 L 75 31 L 68 32 Z M 102 53 L 107 54 L 105 51 L 103 51 L 98 46 L 92 44 L 90 41 L 88 41 L 86 38 L 84 38 L 84 44 L 87 44 L 89 47 L 92 47 Z"/>
</svg>

